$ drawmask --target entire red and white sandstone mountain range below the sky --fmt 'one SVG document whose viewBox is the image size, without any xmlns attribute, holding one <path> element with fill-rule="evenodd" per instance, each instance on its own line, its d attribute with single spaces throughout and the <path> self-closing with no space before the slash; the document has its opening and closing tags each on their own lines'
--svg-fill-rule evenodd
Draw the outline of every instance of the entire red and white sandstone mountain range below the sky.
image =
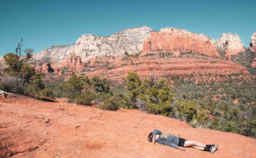
<svg viewBox="0 0 256 158">
<path fill-rule="evenodd" d="M 252 52 L 255 48 L 254 36 L 255 32 L 249 47 Z M 129 71 L 145 77 L 149 76 L 150 71 L 154 71 L 154 75 L 247 74 L 246 68 L 231 61 L 231 55 L 240 52 L 245 52 L 245 47 L 237 34 L 223 33 L 221 39 L 215 40 L 204 34 L 178 28 L 167 27 L 155 32 L 142 26 L 108 37 L 87 34 L 81 36 L 75 45 L 50 47 L 34 54 L 34 67 L 46 74 L 63 75 L 64 71 L 76 71 L 79 74 L 102 75 L 112 79 L 118 78 L 117 74 L 120 74 L 119 77 L 127 75 Z M 191 53 L 201 55 L 195 57 L 189 55 Z M 160 59 L 151 54 L 171 56 Z M 132 61 L 122 60 L 126 55 L 137 57 Z M 45 56 L 49 57 L 49 62 L 46 62 Z M 177 61 L 176 64 L 173 64 L 174 61 Z M 252 62 L 254 66 L 255 60 Z"/>
</svg>

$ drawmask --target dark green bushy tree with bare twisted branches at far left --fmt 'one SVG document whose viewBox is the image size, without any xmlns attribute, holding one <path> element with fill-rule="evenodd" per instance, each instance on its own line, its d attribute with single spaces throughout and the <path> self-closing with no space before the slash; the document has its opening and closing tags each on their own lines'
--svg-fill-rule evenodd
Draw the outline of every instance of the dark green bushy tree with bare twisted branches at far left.
<svg viewBox="0 0 256 158">
<path fill-rule="evenodd" d="M 15 49 L 15 54 L 4 55 L 7 67 L 4 68 L 4 76 L 0 79 L 0 88 L 13 93 L 31 94 L 37 98 L 52 97 L 50 90 L 44 90 L 43 74 L 35 73 L 34 68 L 26 63 L 31 59 L 33 49 L 22 50 L 22 42 L 21 39 Z"/>
</svg>

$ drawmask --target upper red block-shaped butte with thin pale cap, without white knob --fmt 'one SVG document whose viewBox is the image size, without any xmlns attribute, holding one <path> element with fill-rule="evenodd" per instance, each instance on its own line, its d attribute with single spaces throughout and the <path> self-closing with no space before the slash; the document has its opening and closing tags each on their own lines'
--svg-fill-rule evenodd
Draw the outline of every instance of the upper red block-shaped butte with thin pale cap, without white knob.
<svg viewBox="0 0 256 158">
<path fill-rule="evenodd" d="M 212 41 L 213 39 L 209 39 L 203 34 L 177 28 L 164 28 L 161 32 L 150 32 L 150 37 L 143 42 L 142 54 L 179 50 L 220 56 Z"/>
</svg>

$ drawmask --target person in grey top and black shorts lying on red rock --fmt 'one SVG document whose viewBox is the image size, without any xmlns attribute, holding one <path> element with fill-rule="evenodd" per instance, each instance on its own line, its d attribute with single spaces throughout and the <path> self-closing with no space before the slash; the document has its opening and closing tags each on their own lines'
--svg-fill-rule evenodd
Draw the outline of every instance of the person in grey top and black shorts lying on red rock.
<svg viewBox="0 0 256 158">
<path fill-rule="evenodd" d="M 162 145 L 166 145 L 169 147 L 175 147 L 177 149 L 185 150 L 184 147 L 194 147 L 202 151 L 207 151 L 214 154 L 219 145 L 206 145 L 194 140 L 184 140 L 183 138 L 179 138 L 175 135 L 171 134 L 162 134 L 161 131 L 154 129 L 153 133 L 149 133 L 147 140 L 149 142 L 157 142 Z"/>
</svg>

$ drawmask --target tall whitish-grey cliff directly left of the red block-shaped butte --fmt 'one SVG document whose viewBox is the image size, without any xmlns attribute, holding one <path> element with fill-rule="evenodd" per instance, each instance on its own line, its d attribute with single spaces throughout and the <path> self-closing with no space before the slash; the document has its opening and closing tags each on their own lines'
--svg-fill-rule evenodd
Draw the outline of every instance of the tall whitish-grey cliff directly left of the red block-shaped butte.
<svg viewBox="0 0 256 158">
<path fill-rule="evenodd" d="M 92 34 L 81 36 L 73 50 L 73 54 L 82 60 L 102 56 L 118 56 L 138 54 L 142 50 L 142 42 L 149 37 L 151 28 L 147 26 L 127 29 L 108 37 L 98 37 Z"/>
</svg>

